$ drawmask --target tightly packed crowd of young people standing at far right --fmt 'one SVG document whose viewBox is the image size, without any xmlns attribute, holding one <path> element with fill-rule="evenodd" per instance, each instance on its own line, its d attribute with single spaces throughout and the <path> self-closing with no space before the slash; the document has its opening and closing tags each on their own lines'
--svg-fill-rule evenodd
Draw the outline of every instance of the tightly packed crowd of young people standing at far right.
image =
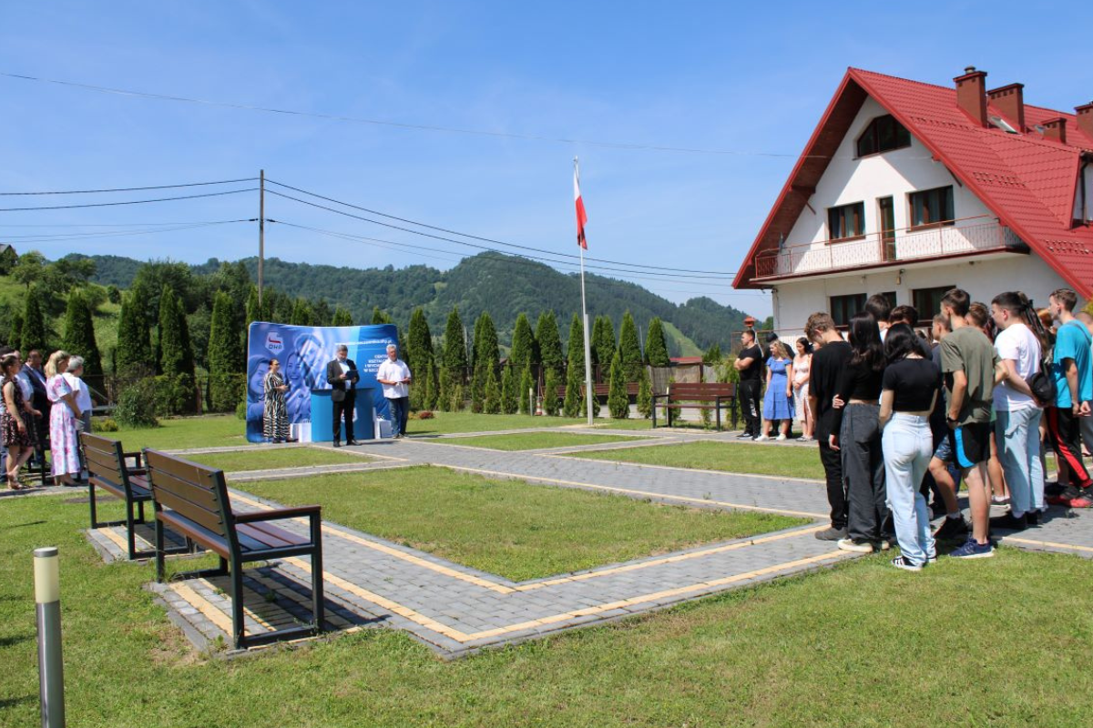
<svg viewBox="0 0 1093 728">
<path fill-rule="evenodd" d="M 951 557 L 990 557 L 991 528 L 1035 526 L 1049 504 L 1093 506 L 1082 447 L 1083 439 L 1093 447 L 1093 318 L 1076 313 L 1077 302 L 1060 288 L 1046 311 L 1020 291 L 988 307 L 954 288 L 933 318 L 932 342 L 913 329 L 918 311 L 881 296 L 850 319 L 845 337 L 828 313 L 809 317 L 808 405 L 831 505 L 831 526 L 816 537 L 861 553 L 898 545 L 892 564 L 920 571 L 940 540 L 963 540 Z M 741 357 L 754 336 L 743 343 Z M 1047 449 L 1057 482 L 1045 481 Z M 971 524 L 957 500 L 962 480 Z M 1009 504 L 994 518 L 991 490 L 995 503 Z"/>
</svg>

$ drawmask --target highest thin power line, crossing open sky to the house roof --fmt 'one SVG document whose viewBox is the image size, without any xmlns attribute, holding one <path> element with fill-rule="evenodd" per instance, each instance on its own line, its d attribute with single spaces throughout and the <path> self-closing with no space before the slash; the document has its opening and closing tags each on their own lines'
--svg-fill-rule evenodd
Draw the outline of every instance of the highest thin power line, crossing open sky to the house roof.
<svg viewBox="0 0 1093 728">
<path fill-rule="evenodd" d="M 742 150 L 713 150 L 703 147 L 690 147 L 690 146 L 669 146 L 663 144 L 636 144 L 630 142 L 604 142 L 590 139 L 571 139 L 565 136 L 546 136 L 543 134 L 519 134 L 516 132 L 505 132 L 505 131 L 491 131 L 484 129 L 463 129 L 458 127 L 444 127 L 439 124 L 422 124 L 422 123 L 409 123 L 404 121 L 390 121 L 385 119 L 368 119 L 364 117 L 349 117 L 337 114 L 322 114 L 319 111 L 299 111 L 295 109 L 279 109 L 269 106 L 256 106 L 251 104 L 237 104 L 232 102 L 215 102 L 204 98 L 193 98 L 190 96 L 177 96 L 174 94 L 156 94 L 142 91 L 131 91 L 127 88 L 115 88 L 110 86 L 98 86 L 89 83 L 78 83 L 75 81 L 62 81 L 59 79 L 45 79 L 40 76 L 25 75 L 22 73 L 4 73 L 0 71 L 0 76 L 7 76 L 9 79 L 20 79 L 22 81 L 34 81 L 37 83 L 51 83 L 59 86 L 69 86 L 72 88 L 84 88 L 87 91 L 95 91 L 103 94 L 117 94 L 120 96 L 134 96 L 138 98 L 153 98 L 163 102 L 180 102 L 186 104 L 200 104 L 202 106 L 219 106 L 223 108 L 231 109 L 245 109 L 247 111 L 262 111 L 266 114 L 281 114 L 286 116 L 298 116 L 308 117 L 313 119 L 328 119 L 331 121 L 348 121 L 353 123 L 366 123 L 379 127 L 393 127 L 397 129 L 412 129 L 416 131 L 433 131 L 433 132 L 445 132 L 451 134 L 467 134 L 473 136 L 492 136 L 497 139 L 519 139 L 524 141 L 531 142 L 553 142 L 559 144 L 583 144 L 587 146 L 599 146 L 611 150 L 630 150 L 630 151 L 642 151 L 642 152 L 681 152 L 686 154 L 710 154 L 710 155 L 728 155 L 728 156 L 749 156 L 749 157 L 785 157 L 785 158 L 798 158 L 801 155 L 788 154 L 779 152 L 753 152 L 753 151 L 742 151 Z M 820 157 L 824 159 L 833 158 L 832 155 L 807 155 L 810 157 Z"/>
</svg>

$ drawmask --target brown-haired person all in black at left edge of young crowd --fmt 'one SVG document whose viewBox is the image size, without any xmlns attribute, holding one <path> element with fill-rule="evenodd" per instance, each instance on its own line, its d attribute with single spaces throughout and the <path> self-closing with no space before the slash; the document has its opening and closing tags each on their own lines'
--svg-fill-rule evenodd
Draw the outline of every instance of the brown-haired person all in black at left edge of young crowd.
<svg viewBox="0 0 1093 728">
<path fill-rule="evenodd" d="M 820 348 L 812 354 L 809 373 L 809 405 L 815 421 L 820 462 L 827 481 L 827 503 L 831 505 L 831 527 L 816 533 L 816 538 L 837 541 L 846 538 L 847 500 L 843 481 L 843 457 L 838 450 L 838 410 L 832 406 L 839 374 L 850 360 L 850 345 L 843 341 L 835 321 L 824 312 L 813 313 L 804 326 L 804 335 Z"/>
</svg>

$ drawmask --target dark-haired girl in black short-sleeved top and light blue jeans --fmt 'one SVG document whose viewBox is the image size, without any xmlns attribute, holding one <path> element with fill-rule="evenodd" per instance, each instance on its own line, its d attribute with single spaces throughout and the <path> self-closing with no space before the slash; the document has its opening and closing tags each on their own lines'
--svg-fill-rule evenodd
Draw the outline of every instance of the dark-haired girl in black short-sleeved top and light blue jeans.
<svg viewBox="0 0 1093 728">
<path fill-rule="evenodd" d="M 922 357 L 915 332 L 905 324 L 889 329 L 884 355 L 881 449 L 885 497 L 900 545 L 900 556 L 892 559 L 892 565 L 921 571 L 938 558 L 920 484 L 933 453 L 930 413 L 938 402 L 940 372 L 933 361 Z"/>
</svg>

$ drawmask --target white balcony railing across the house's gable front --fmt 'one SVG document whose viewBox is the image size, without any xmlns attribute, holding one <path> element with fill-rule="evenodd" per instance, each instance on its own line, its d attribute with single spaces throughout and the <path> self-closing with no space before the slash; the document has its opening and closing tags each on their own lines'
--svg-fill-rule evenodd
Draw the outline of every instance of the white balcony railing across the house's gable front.
<svg viewBox="0 0 1093 728">
<path fill-rule="evenodd" d="M 755 277 L 853 271 L 991 251 L 1027 252 L 1025 243 L 1010 228 L 997 219 L 983 220 L 983 217 L 973 217 L 927 229 L 874 232 L 845 242 L 814 242 L 769 250 L 756 256 Z"/>
</svg>

